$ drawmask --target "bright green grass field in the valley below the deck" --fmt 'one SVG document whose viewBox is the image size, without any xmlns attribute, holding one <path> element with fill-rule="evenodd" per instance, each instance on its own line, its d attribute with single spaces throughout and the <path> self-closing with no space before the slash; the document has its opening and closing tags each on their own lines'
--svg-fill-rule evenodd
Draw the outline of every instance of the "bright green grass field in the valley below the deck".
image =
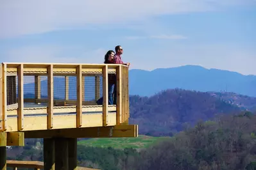
<svg viewBox="0 0 256 170">
<path fill-rule="evenodd" d="M 151 144 L 157 143 L 170 137 L 151 137 L 139 135 L 139 137 L 119 137 L 119 138 L 94 138 L 78 141 L 78 144 L 92 147 L 112 147 L 112 148 L 147 148 Z"/>
</svg>

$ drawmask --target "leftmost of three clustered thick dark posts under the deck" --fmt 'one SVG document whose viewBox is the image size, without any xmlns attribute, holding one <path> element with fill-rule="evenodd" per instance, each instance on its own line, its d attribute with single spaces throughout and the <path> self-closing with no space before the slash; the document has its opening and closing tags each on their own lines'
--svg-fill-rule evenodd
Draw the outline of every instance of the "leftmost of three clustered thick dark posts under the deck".
<svg viewBox="0 0 256 170">
<path fill-rule="evenodd" d="M 55 139 L 44 139 L 44 169 L 55 169 Z"/>
</svg>

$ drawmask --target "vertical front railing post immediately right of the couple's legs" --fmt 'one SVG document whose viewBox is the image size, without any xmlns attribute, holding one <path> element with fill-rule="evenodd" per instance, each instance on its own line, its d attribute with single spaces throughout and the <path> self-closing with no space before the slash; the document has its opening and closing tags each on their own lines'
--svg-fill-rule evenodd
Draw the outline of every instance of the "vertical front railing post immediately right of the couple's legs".
<svg viewBox="0 0 256 170">
<path fill-rule="evenodd" d="M 116 68 L 116 77 L 117 77 L 117 107 L 116 107 L 116 124 L 121 123 L 122 115 L 122 67 L 121 65 Z"/>
</svg>

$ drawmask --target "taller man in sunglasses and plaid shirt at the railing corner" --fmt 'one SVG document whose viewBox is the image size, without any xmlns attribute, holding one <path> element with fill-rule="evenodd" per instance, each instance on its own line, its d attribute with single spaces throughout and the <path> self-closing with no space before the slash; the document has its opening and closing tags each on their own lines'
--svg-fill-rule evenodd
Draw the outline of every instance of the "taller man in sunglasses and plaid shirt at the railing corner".
<svg viewBox="0 0 256 170">
<path fill-rule="evenodd" d="M 115 55 L 114 55 L 113 63 L 130 66 L 130 63 L 123 63 L 122 58 L 121 58 L 122 54 L 123 54 L 123 48 L 121 47 L 121 45 L 117 45 L 115 47 Z M 109 81 L 109 83 L 108 83 L 108 98 L 109 98 L 110 104 L 116 105 L 116 98 L 117 98 L 116 76 L 114 75 L 114 77 L 112 77 L 110 79 L 113 81 Z M 114 95 L 114 99 L 112 98 L 113 95 Z"/>
</svg>

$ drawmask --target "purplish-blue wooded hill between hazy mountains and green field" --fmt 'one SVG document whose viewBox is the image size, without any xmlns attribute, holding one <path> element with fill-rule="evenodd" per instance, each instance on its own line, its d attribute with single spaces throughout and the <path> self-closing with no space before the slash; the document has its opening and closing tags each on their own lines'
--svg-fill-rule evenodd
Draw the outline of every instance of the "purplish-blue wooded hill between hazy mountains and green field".
<svg viewBox="0 0 256 170">
<path fill-rule="evenodd" d="M 241 109 L 210 93 L 167 89 L 152 97 L 131 96 L 130 123 L 139 124 L 140 134 L 173 135 L 199 120 Z"/>
</svg>

